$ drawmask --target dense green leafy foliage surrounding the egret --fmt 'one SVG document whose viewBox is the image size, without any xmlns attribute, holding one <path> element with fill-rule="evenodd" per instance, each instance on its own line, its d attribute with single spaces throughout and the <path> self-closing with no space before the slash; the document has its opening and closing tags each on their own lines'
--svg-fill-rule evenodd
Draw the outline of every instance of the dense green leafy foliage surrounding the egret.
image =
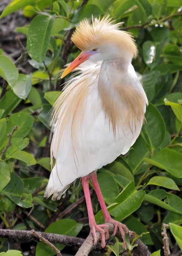
<svg viewBox="0 0 182 256">
<path fill-rule="evenodd" d="M 182 1 L 13 0 L 3 4 L 0 228 L 46 230 L 82 238 L 88 235 L 82 186 L 77 184 L 74 192 L 71 186 L 58 202 L 43 198 L 51 171 L 49 111 L 64 82 L 52 73 L 80 53 L 70 41 L 79 21 L 84 17 L 91 19 L 92 14 L 94 17 L 110 14 L 117 22 L 123 21 L 123 29 L 132 32 L 136 39 L 139 57 L 133 65 L 150 105 L 147 122 L 130 151 L 98 171 L 101 190 L 108 206 L 118 203 L 109 208 L 113 217 L 139 235 L 149 232 L 141 239 L 151 253 L 158 251 L 155 255 L 163 255 L 163 222 L 171 223 L 168 230 L 171 250 L 176 248 L 176 241 L 182 249 Z M 20 64 L 13 64 L 21 54 L 16 35 L 28 51 L 27 60 L 21 60 Z M 17 129 L 7 148 L 8 134 L 15 125 Z M 91 195 L 94 212 L 98 212 L 97 222 L 101 222 L 93 190 Z M 64 211 L 75 206 L 75 202 L 77 207 Z M 17 249 L 29 256 L 35 252 L 36 256 L 54 255 L 40 242 L 36 249 L 33 241 L 0 239 L 0 242 L 0 252 Z M 63 253 L 76 251 L 60 245 L 58 248 Z M 177 252 L 181 255 L 179 249 Z"/>
</svg>

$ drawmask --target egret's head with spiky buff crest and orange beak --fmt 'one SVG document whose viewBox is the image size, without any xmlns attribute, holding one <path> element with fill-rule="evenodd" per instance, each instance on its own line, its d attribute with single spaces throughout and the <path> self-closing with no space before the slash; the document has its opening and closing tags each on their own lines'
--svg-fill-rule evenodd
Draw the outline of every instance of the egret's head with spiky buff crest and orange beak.
<svg viewBox="0 0 182 256">
<path fill-rule="evenodd" d="M 123 61 L 131 62 L 137 56 L 137 45 L 131 33 L 119 30 L 120 25 L 122 22 L 114 24 L 109 16 L 92 18 L 92 23 L 86 18 L 82 20 L 71 36 L 73 43 L 82 52 L 66 68 L 61 78 L 87 60 L 98 62 L 122 58 Z"/>
</svg>

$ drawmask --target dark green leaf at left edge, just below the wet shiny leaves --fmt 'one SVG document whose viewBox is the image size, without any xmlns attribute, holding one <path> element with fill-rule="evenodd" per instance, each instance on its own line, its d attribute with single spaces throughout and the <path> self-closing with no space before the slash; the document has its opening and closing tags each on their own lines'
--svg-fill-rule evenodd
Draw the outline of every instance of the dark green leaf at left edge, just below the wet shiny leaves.
<svg viewBox="0 0 182 256">
<path fill-rule="evenodd" d="M 5 93 L 3 98 L 0 100 L 0 109 L 4 109 L 4 113 L 2 117 L 6 117 L 17 105 L 20 103 L 21 99 L 19 99 L 12 90 L 9 90 Z"/>
</svg>

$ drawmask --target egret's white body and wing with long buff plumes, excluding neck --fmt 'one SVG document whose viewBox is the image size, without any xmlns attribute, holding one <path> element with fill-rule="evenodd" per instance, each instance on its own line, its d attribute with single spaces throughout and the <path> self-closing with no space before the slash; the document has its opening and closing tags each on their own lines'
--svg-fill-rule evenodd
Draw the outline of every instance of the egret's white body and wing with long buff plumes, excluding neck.
<svg viewBox="0 0 182 256">
<path fill-rule="evenodd" d="M 121 125 L 114 134 L 102 107 L 99 72 L 100 65 L 85 67 L 67 87 L 69 97 L 62 104 L 52 140 L 57 163 L 48 182 L 47 197 L 54 194 L 53 199 L 59 199 L 70 183 L 125 154 L 139 136 L 143 119 L 135 125 L 131 121 L 132 131 Z"/>
</svg>

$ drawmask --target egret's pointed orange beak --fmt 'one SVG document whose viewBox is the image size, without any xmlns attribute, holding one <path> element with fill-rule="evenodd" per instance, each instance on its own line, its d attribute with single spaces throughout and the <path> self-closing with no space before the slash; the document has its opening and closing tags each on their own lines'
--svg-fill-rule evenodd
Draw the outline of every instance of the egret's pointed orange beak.
<svg viewBox="0 0 182 256">
<path fill-rule="evenodd" d="M 80 66 L 80 64 L 87 61 L 90 56 L 91 56 L 90 52 L 81 52 L 80 55 L 78 55 L 78 57 L 65 69 L 61 78 L 67 76 L 76 67 Z"/>
</svg>

